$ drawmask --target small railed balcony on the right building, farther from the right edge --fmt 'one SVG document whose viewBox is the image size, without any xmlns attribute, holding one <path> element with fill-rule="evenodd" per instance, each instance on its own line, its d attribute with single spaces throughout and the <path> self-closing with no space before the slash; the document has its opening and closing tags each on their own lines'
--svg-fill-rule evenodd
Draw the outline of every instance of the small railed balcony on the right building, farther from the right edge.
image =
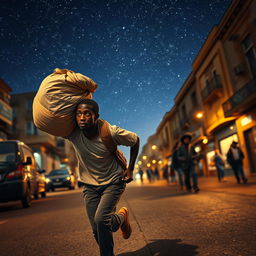
<svg viewBox="0 0 256 256">
<path fill-rule="evenodd" d="M 215 75 L 202 90 L 203 102 L 208 103 L 216 100 L 216 96 L 221 97 L 222 87 L 220 76 Z"/>
</svg>

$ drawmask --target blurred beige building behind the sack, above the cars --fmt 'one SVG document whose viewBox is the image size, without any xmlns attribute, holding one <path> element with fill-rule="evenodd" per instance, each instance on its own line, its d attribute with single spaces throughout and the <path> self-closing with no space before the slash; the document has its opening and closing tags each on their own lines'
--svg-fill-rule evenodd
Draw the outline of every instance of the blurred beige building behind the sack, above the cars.
<svg viewBox="0 0 256 256">
<path fill-rule="evenodd" d="M 34 125 L 32 104 L 35 94 L 35 92 L 29 92 L 12 95 L 12 138 L 19 139 L 30 146 L 39 167 L 45 169 L 47 173 L 61 167 L 70 168 L 70 163 L 74 164 L 75 161 L 72 160 L 72 149 L 66 145 L 66 141 L 45 133 Z M 75 164 L 72 168 L 75 172 Z"/>
</svg>

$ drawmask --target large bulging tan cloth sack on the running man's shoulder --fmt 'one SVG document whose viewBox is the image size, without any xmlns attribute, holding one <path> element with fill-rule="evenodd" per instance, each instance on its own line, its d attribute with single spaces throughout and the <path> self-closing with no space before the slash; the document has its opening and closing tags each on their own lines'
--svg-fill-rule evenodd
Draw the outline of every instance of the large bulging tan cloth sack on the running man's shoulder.
<svg viewBox="0 0 256 256">
<path fill-rule="evenodd" d="M 70 135 L 76 126 L 75 108 L 82 98 L 92 98 L 97 84 L 82 74 L 55 69 L 41 83 L 33 101 L 35 126 L 55 136 Z"/>
</svg>

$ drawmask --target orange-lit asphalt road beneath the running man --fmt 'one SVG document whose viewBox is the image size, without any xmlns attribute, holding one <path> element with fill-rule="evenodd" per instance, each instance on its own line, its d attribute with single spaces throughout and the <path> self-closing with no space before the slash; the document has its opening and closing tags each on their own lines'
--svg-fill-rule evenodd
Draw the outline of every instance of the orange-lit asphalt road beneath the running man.
<svg viewBox="0 0 256 256">
<path fill-rule="evenodd" d="M 256 256 L 255 196 L 128 185 L 133 235 L 114 234 L 119 256 Z M 81 190 L 48 193 L 28 209 L 0 204 L 1 256 L 97 256 Z"/>
</svg>

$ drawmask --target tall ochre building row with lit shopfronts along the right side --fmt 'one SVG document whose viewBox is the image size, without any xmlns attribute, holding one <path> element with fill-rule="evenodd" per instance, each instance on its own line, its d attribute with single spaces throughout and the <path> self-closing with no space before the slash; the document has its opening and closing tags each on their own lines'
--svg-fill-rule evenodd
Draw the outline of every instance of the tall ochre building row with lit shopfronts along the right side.
<svg viewBox="0 0 256 256">
<path fill-rule="evenodd" d="M 162 159 L 185 132 L 203 156 L 199 172 L 215 175 L 214 150 L 226 157 L 237 141 L 245 173 L 256 173 L 256 1 L 234 0 L 209 33 L 157 128 Z"/>
</svg>

